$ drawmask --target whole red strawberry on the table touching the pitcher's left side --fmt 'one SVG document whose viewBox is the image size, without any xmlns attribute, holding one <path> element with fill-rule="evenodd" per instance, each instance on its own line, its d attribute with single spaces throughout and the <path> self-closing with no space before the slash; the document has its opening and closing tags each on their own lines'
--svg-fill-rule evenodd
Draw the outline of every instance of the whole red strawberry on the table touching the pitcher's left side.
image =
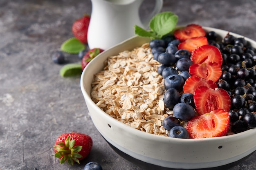
<svg viewBox="0 0 256 170">
<path fill-rule="evenodd" d="M 82 43 L 87 43 L 87 33 L 90 22 L 90 16 L 84 15 L 82 18 L 76 20 L 72 25 L 72 32 L 78 40 Z"/>
</svg>

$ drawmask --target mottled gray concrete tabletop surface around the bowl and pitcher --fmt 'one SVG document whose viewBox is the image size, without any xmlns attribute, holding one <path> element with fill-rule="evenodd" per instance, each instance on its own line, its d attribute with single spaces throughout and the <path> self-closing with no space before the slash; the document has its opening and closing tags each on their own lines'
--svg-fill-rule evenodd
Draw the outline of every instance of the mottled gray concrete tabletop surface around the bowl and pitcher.
<svg viewBox="0 0 256 170">
<path fill-rule="evenodd" d="M 142 18 L 154 5 L 147 1 Z M 162 11 L 176 13 L 178 25 L 196 23 L 256 40 L 255 0 L 164 0 Z M 83 13 L 91 13 L 90 0 L 0 0 L 0 170 L 82 170 L 88 161 L 104 170 L 143 170 L 97 132 L 80 77 L 61 77 L 62 65 L 52 62 Z M 73 55 L 68 60 L 79 61 Z M 90 135 L 94 146 L 80 165 L 60 165 L 52 146 L 71 131 Z M 256 153 L 229 170 L 256 170 Z"/>
</svg>

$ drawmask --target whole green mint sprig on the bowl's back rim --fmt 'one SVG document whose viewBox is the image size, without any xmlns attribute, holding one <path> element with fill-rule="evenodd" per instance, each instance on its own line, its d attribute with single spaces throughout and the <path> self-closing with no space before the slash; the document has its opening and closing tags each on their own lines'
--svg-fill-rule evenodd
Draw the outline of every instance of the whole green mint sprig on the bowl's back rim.
<svg viewBox="0 0 256 170">
<path fill-rule="evenodd" d="M 160 39 L 164 35 L 170 33 L 178 22 L 178 16 L 172 12 L 162 12 L 155 15 L 149 22 L 147 31 L 135 25 L 135 34 L 141 37 L 149 37 L 151 39 Z"/>
</svg>

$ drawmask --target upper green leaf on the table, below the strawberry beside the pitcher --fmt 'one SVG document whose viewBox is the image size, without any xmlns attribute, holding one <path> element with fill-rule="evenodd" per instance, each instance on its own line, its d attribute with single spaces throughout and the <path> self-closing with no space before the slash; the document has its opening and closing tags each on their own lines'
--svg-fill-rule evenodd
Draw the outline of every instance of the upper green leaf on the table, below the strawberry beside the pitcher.
<svg viewBox="0 0 256 170">
<path fill-rule="evenodd" d="M 61 50 L 71 54 L 77 54 L 85 49 L 85 45 L 80 42 L 77 38 L 70 38 L 63 42 Z"/>
</svg>

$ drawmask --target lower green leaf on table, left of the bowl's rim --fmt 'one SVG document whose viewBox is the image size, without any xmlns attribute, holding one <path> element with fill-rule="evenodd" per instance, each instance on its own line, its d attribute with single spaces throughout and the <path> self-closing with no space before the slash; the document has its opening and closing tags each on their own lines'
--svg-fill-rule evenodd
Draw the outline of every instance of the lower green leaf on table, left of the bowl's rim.
<svg viewBox="0 0 256 170">
<path fill-rule="evenodd" d="M 66 64 L 61 68 L 60 75 L 62 77 L 72 77 L 81 75 L 82 71 L 81 63 Z"/>
</svg>

